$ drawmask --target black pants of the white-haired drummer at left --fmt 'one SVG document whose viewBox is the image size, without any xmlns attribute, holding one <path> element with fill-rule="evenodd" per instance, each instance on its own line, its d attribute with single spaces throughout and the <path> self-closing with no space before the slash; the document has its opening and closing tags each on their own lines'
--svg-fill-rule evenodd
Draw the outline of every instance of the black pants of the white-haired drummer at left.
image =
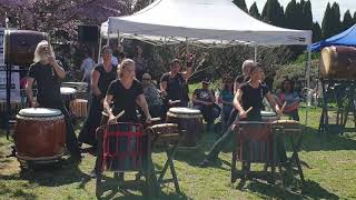
<svg viewBox="0 0 356 200">
<path fill-rule="evenodd" d="M 65 122 L 66 122 L 66 146 L 69 150 L 70 154 L 75 158 L 80 158 L 80 150 L 79 144 L 77 140 L 77 136 L 75 133 L 75 127 L 70 121 L 70 116 L 62 102 L 42 102 L 39 104 L 41 108 L 50 108 L 50 109 L 58 109 L 62 112 L 65 116 Z"/>
</svg>

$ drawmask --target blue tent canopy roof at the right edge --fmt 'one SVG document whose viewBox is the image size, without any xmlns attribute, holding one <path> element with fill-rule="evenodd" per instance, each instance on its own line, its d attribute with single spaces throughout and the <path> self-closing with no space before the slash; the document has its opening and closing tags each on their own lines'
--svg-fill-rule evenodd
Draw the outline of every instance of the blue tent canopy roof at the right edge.
<svg viewBox="0 0 356 200">
<path fill-rule="evenodd" d="M 329 39 L 322 40 L 310 46 L 312 51 L 319 51 L 329 46 L 355 46 L 356 47 L 356 24 L 346 31 L 338 33 Z"/>
</svg>

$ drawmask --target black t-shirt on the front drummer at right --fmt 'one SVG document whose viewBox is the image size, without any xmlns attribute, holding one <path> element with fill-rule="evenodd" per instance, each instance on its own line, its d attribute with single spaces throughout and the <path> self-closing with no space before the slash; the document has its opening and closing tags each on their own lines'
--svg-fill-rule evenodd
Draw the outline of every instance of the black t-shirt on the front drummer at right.
<svg viewBox="0 0 356 200">
<path fill-rule="evenodd" d="M 247 120 L 249 121 L 260 121 L 260 111 L 264 108 L 263 100 L 265 96 L 269 92 L 266 84 L 259 84 L 258 88 L 253 88 L 248 82 L 241 84 L 240 90 L 243 91 L 243 108 L 248 110 L 253 107 L 253 110 L 247 113 Z"/>
</svg>

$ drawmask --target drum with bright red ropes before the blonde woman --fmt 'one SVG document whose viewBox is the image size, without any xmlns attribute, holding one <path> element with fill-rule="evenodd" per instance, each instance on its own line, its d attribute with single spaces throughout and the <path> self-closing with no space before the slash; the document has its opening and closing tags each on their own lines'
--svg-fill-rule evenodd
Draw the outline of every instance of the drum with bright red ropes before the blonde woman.
<svg viewBox="0 0 356 200">
<path fill-rule="evenodd" d="M 138 171 L 146 163 L 147 142 L 139 123 L 107 124 L 103 136 L 103 170 Z"/>
</svg>

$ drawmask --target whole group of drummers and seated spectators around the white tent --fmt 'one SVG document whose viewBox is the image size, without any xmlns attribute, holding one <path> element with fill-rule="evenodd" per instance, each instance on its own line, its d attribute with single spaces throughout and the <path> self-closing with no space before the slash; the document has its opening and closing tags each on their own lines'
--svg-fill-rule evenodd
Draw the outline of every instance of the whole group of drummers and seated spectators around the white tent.
<svg viewBox="0 0 356 200">
<path fill-rule="evenodd" d="M 102 59 L 97 64 L 90 53 L 87 53 L 81 70 L 82 80 L 90 84 L 90 104 L 77 139 L 60 96 L 60 79 L 65 78 L 66 71 L 56 62 L 55 53 L 47 41 L 38 44 L 26 84 L 30 107 L 59 109 L 65 114 L 67 148 L 76 161 L 81 160 L 80 143 L 97 147 L 96 130 L 101 123 L 103 112 L 109 118 L 108 123 L 117 122 L 118 114 L 121 113 L 120 121 L 149 123 L 152 118 L 165 119 L 169 108 L 188 107 L 190 98 L 187 80 L 192 73 L 195 56 L 188 57 L 185 68 L 180 60 L 174 59 L 170 70 L 161 76 L 158 86 L 152 81 L 151 74 L 144 70 L 141 49 L 138 48 L 138 51 L 140 53 L 137 58 L 127 59 L 125 53 L 121 53 L 121 57 L 115 60 L 110 47 L 105 46 L 101 49 Z M 285 113 L 299 120 L 299 94 L 294 91 L 291 80 L 285 80 L 280 93 L 274 96 L 264 83 L 265 74 L 260 63 L 246 60 L 241 71 L 243 74 L 235 80 L 228 74 L 222 77 L 224 84 L 218 97 L 209 88 L 209 79 L 204 79 L 201 88 L 192 92 L 192 108 L 201 111 L 207 129 L 211 129 L 219 117 L 222 124 L 220 137 L 200 163 L 201 167 L 217 159 L 221 149 L 231 141 L 230 127 L 236 119 L 261 121 L 265 98 L 277 114 Z M 37 101 L 32 93 L 34 81 L 38 88 Z M 144 120 L 138 116 L 142 116 Z"/>
</svg>

